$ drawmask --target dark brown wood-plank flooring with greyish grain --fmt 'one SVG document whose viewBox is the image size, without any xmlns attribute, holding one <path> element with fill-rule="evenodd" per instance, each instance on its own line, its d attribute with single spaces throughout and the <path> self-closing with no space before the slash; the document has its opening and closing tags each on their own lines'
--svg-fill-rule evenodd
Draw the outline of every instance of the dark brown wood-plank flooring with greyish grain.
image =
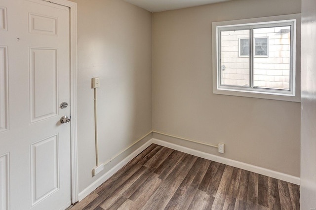
<svg viewBox="0 0 316 210">
<path fill-rule="evenodd" d="M 156 144 L 71 210 L 299 210 L 300 187 Z"/>
</svg>

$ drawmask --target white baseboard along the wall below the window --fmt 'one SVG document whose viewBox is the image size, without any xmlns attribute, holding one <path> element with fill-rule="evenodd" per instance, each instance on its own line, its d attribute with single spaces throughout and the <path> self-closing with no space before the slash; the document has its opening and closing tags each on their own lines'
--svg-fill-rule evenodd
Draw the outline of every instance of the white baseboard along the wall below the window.
<svg viewBox="0 0 316 210">
<path fill-rule="evenodd" d="M 272 171 L 270 169 L 265 169 L 265 168 L 254 166 L 254 165 L 250 165 L 250 164 L 247 164 L 247 163 L 242 163 L 242 162 L 239 162 L 239 161 L 236 161 L 236 160 L 231 160 L 231 159 L 220 157 L 220 156 L 217 156 L 217 155 L 212 155 L 212 154 L 201 152 L 201 151 L 198 151 L 198 150 L 195 150 L 195 149 L 191 149 L 191 148 L 188 148 L 188 147 L 180 146 L 180 145 L 177 145 L 177 144 L 174 144 L 174 143 L 169 143 L 167 141 L 158 140 L 158 139 L 154 139 L 153 138 L 153 139 L 149 140 L 148 142 L 150 142 L 150 144 L 151 143 L 155 143 L 155 144 L 158 144 L 158 145 L 161 145 L 161 146 L 165 146 L 165 147 L 168 147 L 168 148 L 171 148 L 171 149 L 178 150 L 180 152 L 184 152 L 184 153 L 187 153 L 187 154 L 195 155 L 197 157 L 205 158 L 207 160 L 211 160 L 211 161 L 215 161 L 215 162 L 218 162 L 218 163 L 226 164 L 226 165 L 233 166 L 233 167 L 236 167 L 236 168 L 239 168 L 239 169 L 243 169 L 243 170 L 246 170 L 246 171 L 254 172 L 254 173 L 257 173 L 257 174 L 260 174 L 260 175 L 270 176 L 270 177 L 273 177 L 273 178 L 276 178 L 276 179 L 280 179 L 280 180 L 283 180 L 283 181 L 287 181 L 287 182 L 290 182 L 290 183 L 293 183 L 293 184 L 300 185 L 300 183 L 301 183 L 301 179 L 299 177 L 296 177 L 296 176 L 287 175 L 287 174 L 283 174 L 283 173 L 280 173 L 280 172 Z"/>
</svg>

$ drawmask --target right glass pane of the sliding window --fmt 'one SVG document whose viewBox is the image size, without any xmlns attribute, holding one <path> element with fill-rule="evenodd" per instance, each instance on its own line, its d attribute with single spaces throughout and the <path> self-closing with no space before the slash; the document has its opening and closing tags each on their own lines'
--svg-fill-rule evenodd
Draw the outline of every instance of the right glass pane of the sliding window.
<svg viewBox="0 0 316 210">
<path fill-rule="evenodd" d="M 291 27 L 254 29 L 254 87 L 289 90 Z"/>
</svg>

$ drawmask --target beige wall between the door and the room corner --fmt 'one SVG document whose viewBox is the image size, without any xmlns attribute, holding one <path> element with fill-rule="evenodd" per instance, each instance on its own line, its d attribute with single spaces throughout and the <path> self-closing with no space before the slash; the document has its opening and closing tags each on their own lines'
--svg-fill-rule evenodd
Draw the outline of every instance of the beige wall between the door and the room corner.
<svg viewBox="0 0 316 210">
<path fill-rule="evenodd" d="M 92 177 L 95 167 L 92 77 L 101 78 L 98 88 L 100 163 L 152 129 L 152 14 L 123 0 L 73 1 L 78 3 L 81 192 L 134 149 Z"/>
</svg>

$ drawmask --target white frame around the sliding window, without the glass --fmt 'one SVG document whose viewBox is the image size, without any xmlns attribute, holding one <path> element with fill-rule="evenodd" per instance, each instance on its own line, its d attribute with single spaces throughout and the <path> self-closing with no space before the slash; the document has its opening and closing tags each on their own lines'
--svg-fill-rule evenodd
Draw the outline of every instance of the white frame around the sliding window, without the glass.
<svg viewBox="0 0 316 210">
<path fill-rule="evenodd" d="M 300 102 L 300 71 L 296 61 L 299 61 L 300 54 L 296 51 L 296 45 L 300 46 L 300 14 L 280 15 L 263 18 L 252 18 L 244 20 L 222 21 L 212 23 L 213 43 L 213 94 L 232 96 L 243 96 L 252 98 L 273 99 L 281 101 Z M 277 27 L 291 25 L 291 51 L 290 51 L 290 90 L 276 90 L 256 87 L 242 87 L 232 85 L 221 85 L 221 63 L 220 57 L 220 32 L 224 30 L 249 29 L 254 26 Z M 250 37 L 251 39 L 253 37 Z M 239 48 L 239 46 L 238 46 Z M 267 57 L 267 56 L 266 56 Z M 296 59 L 298 58 L 298 59 Z M 296 66 L 297 65 L 297 66 Z"/>
</svg>

